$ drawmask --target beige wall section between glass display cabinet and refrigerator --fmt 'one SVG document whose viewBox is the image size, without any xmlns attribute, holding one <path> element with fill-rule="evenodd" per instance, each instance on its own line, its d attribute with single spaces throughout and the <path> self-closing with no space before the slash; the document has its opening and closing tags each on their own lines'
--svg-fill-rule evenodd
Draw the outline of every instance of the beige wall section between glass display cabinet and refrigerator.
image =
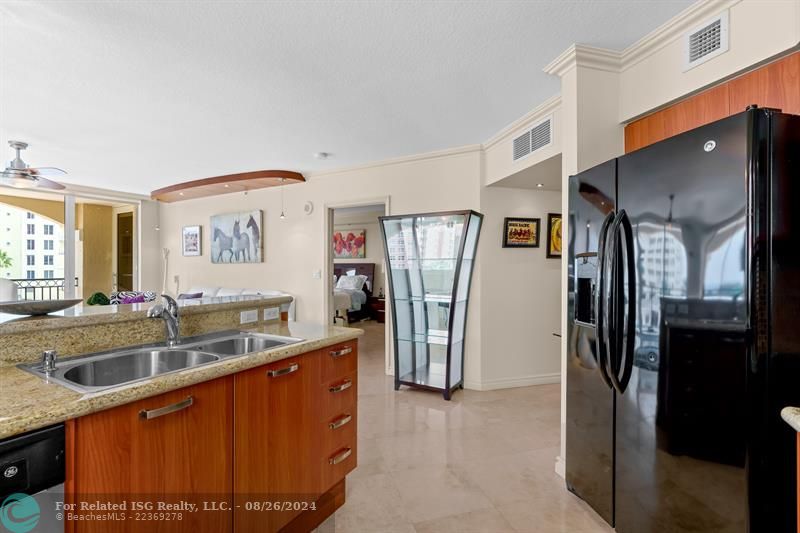
<svg viewBox="0 0 800 533">
<path fill-rule="evenodd" d="M 547 214 L 561 194 L 505 187 L 481 191 L 481 383 L 484 390 L 558 383 L 561 261 L 548 259 Z M 539 248 L 503 248 L 505 217 L 540 218 Z"/>
</svg>

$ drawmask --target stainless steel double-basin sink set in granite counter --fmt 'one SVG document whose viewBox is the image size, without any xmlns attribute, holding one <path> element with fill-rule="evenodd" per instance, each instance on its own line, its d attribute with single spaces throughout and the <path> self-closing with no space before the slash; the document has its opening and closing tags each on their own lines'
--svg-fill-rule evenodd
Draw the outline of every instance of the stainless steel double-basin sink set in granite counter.
<svg viewBox="0 0 800 533">
<path fill-rule="evenodd" d="M 186 338 L 174 348 L 151 344 L 62 359 L 49 373 L 41 363 L 23 364 L 19 368 L 78 392 L 99 392 L 302 340 L 228 331 Z"/>
</svg>

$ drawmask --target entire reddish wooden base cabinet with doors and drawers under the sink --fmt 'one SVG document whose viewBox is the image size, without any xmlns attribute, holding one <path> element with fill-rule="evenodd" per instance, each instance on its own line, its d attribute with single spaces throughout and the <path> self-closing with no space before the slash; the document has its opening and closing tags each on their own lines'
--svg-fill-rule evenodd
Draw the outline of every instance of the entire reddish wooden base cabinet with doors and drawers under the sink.
<svg viewBox="0 0 800 533">
<path fill-rule="evenodd" d="M 357 364 L 351 340 L 68 421 L 67 503 L 200 510 L 113 528 L 66 521 L 67 531 L 313 530 L 344 504 L 356 467 Z"/>
</svg>

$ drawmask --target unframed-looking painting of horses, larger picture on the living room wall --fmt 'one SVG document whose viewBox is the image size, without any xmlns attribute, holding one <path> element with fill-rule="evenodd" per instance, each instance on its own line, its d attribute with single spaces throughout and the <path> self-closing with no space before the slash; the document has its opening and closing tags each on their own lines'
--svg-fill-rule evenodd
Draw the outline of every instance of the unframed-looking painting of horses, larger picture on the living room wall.
<svg viewBox="0 0 800 533">
<path fill-rule="evenodd" d="M 263 219 L 260 209 L 212 216 L 211 262 L 263 262 Z"/>
</svg>

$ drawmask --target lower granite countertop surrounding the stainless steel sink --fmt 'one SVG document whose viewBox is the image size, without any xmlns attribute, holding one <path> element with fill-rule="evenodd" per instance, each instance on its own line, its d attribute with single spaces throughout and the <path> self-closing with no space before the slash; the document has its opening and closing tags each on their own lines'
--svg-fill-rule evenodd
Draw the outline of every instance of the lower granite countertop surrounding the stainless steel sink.
<svg viewBox="0 0 800 533">
<path fill-rule="evenodd" d="M 242 329 L 305 340 L 91 394 L 82 394 L 56 383 L 48 383 L 16 366 L 0 366 L 0 439 L 280 361 L 355 339 L 363 334 L 360 329 L 297 322 Z"/>
</svg>

